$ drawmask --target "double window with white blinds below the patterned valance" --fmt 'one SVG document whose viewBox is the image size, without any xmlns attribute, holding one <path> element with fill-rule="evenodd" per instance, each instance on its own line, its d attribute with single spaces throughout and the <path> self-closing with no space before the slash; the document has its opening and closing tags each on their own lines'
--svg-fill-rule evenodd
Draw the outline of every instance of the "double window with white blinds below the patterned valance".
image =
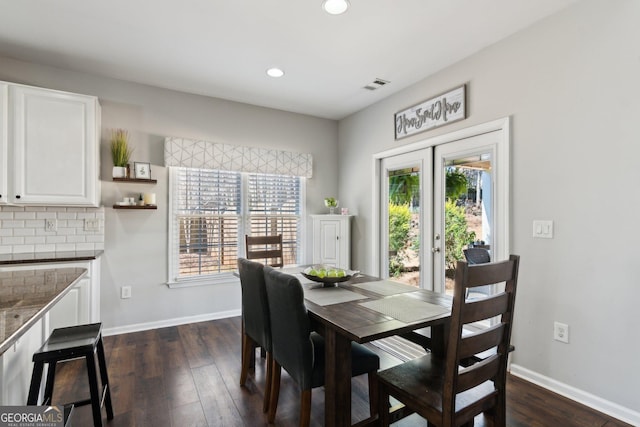
<svg viewBox="0 0 640 427">
<path fill-rule="evenodd" d="M 304 178 L 170 168 L 169 283 L 230 279 L 244 235 L 282 234 L 297 264 Z"/>
</svg>

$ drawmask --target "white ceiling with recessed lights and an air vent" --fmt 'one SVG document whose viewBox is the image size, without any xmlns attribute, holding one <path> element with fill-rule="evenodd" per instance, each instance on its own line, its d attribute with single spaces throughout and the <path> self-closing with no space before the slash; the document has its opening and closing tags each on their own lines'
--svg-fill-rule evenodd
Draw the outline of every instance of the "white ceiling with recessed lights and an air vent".
<svg viewBox="0 0 640 427">
<path fill-rule="evenodd" d="M 0 0 L 0 56 L 341 119 L 576 1 Z"/>
</svg>

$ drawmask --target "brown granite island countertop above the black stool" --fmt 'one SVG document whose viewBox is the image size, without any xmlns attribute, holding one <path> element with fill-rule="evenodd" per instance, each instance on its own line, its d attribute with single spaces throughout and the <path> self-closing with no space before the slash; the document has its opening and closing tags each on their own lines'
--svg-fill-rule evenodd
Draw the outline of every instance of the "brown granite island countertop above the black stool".
<svg viewBox="0 0 640 427">
<path fill-rule="evenodd" d="M 84 268 L 0 271 L 0 355 L 86 274 Z"/>
</svg>

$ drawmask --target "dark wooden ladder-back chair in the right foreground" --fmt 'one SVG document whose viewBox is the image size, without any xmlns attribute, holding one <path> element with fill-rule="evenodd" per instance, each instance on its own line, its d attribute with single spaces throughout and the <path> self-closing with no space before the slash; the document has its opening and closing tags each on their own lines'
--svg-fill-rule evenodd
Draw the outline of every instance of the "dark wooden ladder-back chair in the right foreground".
<svg viewBox="0 0 640 427">
<path fill-rule="evenodd" d="M 506 425 L 507 357 L 513 322 L 520 258 L 469 265 L 458 261 L 450 335 L 446 354 L 427 354 L 378 373 L 381 425 L 388 426 L 389 396 L 439 427 L 472 426 L 476 415 L 493 416 L 494 426 Z M 468 288 L 505 283 L 505 290 L 481 300 L 466 300 Z M 497 323 L 473 334 L 466 324 L 498 317 Z M 463 367 L 483 352 L 490 355 Z"/>
</svg>

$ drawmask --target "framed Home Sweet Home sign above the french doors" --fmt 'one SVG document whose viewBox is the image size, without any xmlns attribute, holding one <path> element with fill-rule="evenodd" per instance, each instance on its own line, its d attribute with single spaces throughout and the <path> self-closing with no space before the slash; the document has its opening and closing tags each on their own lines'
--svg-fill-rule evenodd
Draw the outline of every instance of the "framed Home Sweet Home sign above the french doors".
<svg viewBox="0 0 640 427">
<path fill-rule="evenodd" d="M 396 139 L 467 118 L 466 85 L 395 114 Z"/>
</svg>

